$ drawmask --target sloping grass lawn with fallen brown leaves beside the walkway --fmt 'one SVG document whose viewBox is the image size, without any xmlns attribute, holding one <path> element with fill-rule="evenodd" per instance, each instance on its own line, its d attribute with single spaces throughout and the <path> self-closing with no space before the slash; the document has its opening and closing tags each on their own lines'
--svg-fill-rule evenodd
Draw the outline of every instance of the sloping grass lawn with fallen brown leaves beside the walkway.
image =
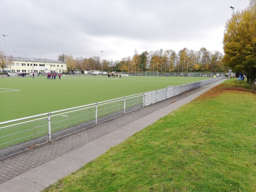
<svg viewBox="0 0 256 192">
<path fill-rule="evenodd" d="M 234 84 L 215 87 L 45 191 L 256 191 L 256 92 Z"/>
</svg>

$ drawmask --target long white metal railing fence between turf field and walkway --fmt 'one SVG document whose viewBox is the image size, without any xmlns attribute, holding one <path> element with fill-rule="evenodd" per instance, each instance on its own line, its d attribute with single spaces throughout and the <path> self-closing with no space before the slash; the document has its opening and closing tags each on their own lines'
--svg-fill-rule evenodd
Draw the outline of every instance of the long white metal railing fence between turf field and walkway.
<svg viewBox="0 0 256 192">
<path fill-rule="evenodd" d="M 223 79 L 197 81 L 104 102 L 0 122 L 0 159 Z"/>
</svg>

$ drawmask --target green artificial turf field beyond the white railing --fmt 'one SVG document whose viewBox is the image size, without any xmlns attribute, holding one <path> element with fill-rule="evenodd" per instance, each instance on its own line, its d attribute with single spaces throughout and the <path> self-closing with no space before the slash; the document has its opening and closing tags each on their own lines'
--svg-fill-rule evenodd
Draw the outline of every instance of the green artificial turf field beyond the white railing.
<svg viewBox="0 0 256 192">
<path fill-rule="evenodd" d="M 203 77 L 61 76 L 0 78 L 0 122 L 201 81 Z"/>
</svg>

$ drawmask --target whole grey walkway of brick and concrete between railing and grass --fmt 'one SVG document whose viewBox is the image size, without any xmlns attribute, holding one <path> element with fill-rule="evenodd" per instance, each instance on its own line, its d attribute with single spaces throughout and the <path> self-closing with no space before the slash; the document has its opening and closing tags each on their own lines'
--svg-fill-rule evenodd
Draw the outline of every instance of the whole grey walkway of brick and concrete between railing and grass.
<svg viewBox="0 0 256 192">
<path fill-rule="evenodd" d="M 0 192 L 40 192 L 224 80 L 6 157 L 0 160 Z"/>
</svg>

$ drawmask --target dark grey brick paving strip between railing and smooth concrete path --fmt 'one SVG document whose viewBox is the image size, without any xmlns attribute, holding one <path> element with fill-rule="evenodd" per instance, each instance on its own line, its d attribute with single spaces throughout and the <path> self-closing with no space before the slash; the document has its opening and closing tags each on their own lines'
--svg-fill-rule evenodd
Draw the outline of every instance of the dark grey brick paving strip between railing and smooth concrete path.
<svg viewBox="0 0 256 192">
<path fill-rule="evenodd" d="M 138 109 L 137 111 L 132 111 L 106 122 L 99 123 L 98 125 L 93 125 L 90 128 L 58 138 L 57 140 L 53 140 L 51 143 L 45 143 L 26 151 L 22 151 L 18 154 L 14 154 L 10 157 L 6 157 L 0 160 L 0 183 L 12 179 L 13 177 L 27 172 L 43 163 L 47 163 L 49 160 L 60 157 L 81 145 L 102 137 L 111 131 L 134 122 L 136 119 L 140 119 L 143 116 L 157 111 L 160 108 L 170 105 L 174 101 L 183 99 L 184 97 L 202 89 L 204 89 L 204 87 L 199 87 L 195 90 L 183 93 L 182 95 L 166 99 L 162 102 Z M 113 126 L 113 123 L 115 126 Z"/>
</svg>

